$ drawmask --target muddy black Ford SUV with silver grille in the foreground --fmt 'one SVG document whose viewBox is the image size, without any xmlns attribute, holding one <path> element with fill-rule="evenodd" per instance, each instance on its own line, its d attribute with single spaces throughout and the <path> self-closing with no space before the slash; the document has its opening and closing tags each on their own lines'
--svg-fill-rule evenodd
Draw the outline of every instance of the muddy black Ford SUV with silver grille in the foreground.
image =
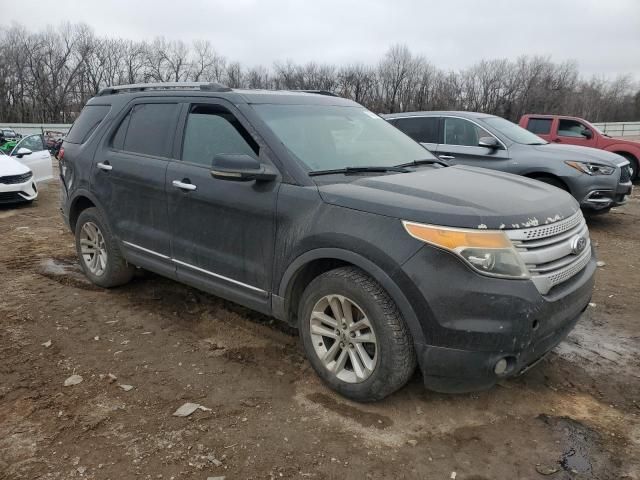
<svg viewBox="0 0 640 480">
<path fill-rule="evenodd" d="M 576 201 L 447 167 L 362 106 L 317 93 L 141 84 L 91 99 L 60 153 L 80 263 L 136 267 L 298 327 L 320 377 L 360 401 L 420 366 L 487 388 L 560 342 L 595 256 Z"/>
</svg>

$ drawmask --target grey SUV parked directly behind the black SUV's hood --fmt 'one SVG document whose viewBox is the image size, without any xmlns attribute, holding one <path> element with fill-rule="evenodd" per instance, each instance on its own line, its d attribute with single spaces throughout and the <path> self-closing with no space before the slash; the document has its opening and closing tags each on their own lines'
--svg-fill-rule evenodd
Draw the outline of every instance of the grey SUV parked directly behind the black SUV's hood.
<svg viewBox="0 0 640 480">
<path fill-rule="evenodd" d="M 523 175 L 571 193 L 585 210 L 606 212 L 631 193 L 625 158 L 592 148 L 549 144 L 518 125 L 474 112 L 382 115 L 452 165 Z"/>
</svg>

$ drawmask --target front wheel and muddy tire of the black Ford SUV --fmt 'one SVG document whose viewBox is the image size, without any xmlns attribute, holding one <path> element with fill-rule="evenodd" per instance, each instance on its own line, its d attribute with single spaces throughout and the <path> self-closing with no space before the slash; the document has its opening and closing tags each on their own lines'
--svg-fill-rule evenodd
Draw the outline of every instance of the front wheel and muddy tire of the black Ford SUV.
<svg viewBox="0 0 640 480">
<path fill-rule="evenodd" d="M 398 307 L 358 268 L 316 277 L 302 294 L 298 319 L 312 367 L 347 398 L 380 400 L 404 386 L 415 370 L 413 341 Z"/>
</svg>

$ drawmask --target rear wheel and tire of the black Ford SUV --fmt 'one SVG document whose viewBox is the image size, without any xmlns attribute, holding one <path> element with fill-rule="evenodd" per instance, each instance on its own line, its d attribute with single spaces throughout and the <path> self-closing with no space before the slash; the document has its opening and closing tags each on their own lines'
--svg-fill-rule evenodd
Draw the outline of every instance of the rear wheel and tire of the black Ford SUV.
<svg viewBox="0 0 640 480">
<path fill-rule="evenodd" d="M 131 280 L 135 267 L 122 256 L 107 222 L 97 208 L 87 208 L 80 213 L 75 234 L 80 266 L 91 282 L 111 288 Z"/>
</svg>

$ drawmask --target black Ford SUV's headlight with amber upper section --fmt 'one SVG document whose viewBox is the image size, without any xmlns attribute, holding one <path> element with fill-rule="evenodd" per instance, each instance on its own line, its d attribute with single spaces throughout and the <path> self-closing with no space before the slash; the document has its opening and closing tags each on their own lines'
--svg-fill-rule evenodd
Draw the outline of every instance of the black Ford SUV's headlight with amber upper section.
<svg viewBox="0 0 640 480">
<path fill-rule="evenodd" d="M 529 278 L 529 271 L 511 240 L 500 230 L 472 230 L 403 221 L 409 235 L 462 258 L 485 275 Z"/>
</svg>

